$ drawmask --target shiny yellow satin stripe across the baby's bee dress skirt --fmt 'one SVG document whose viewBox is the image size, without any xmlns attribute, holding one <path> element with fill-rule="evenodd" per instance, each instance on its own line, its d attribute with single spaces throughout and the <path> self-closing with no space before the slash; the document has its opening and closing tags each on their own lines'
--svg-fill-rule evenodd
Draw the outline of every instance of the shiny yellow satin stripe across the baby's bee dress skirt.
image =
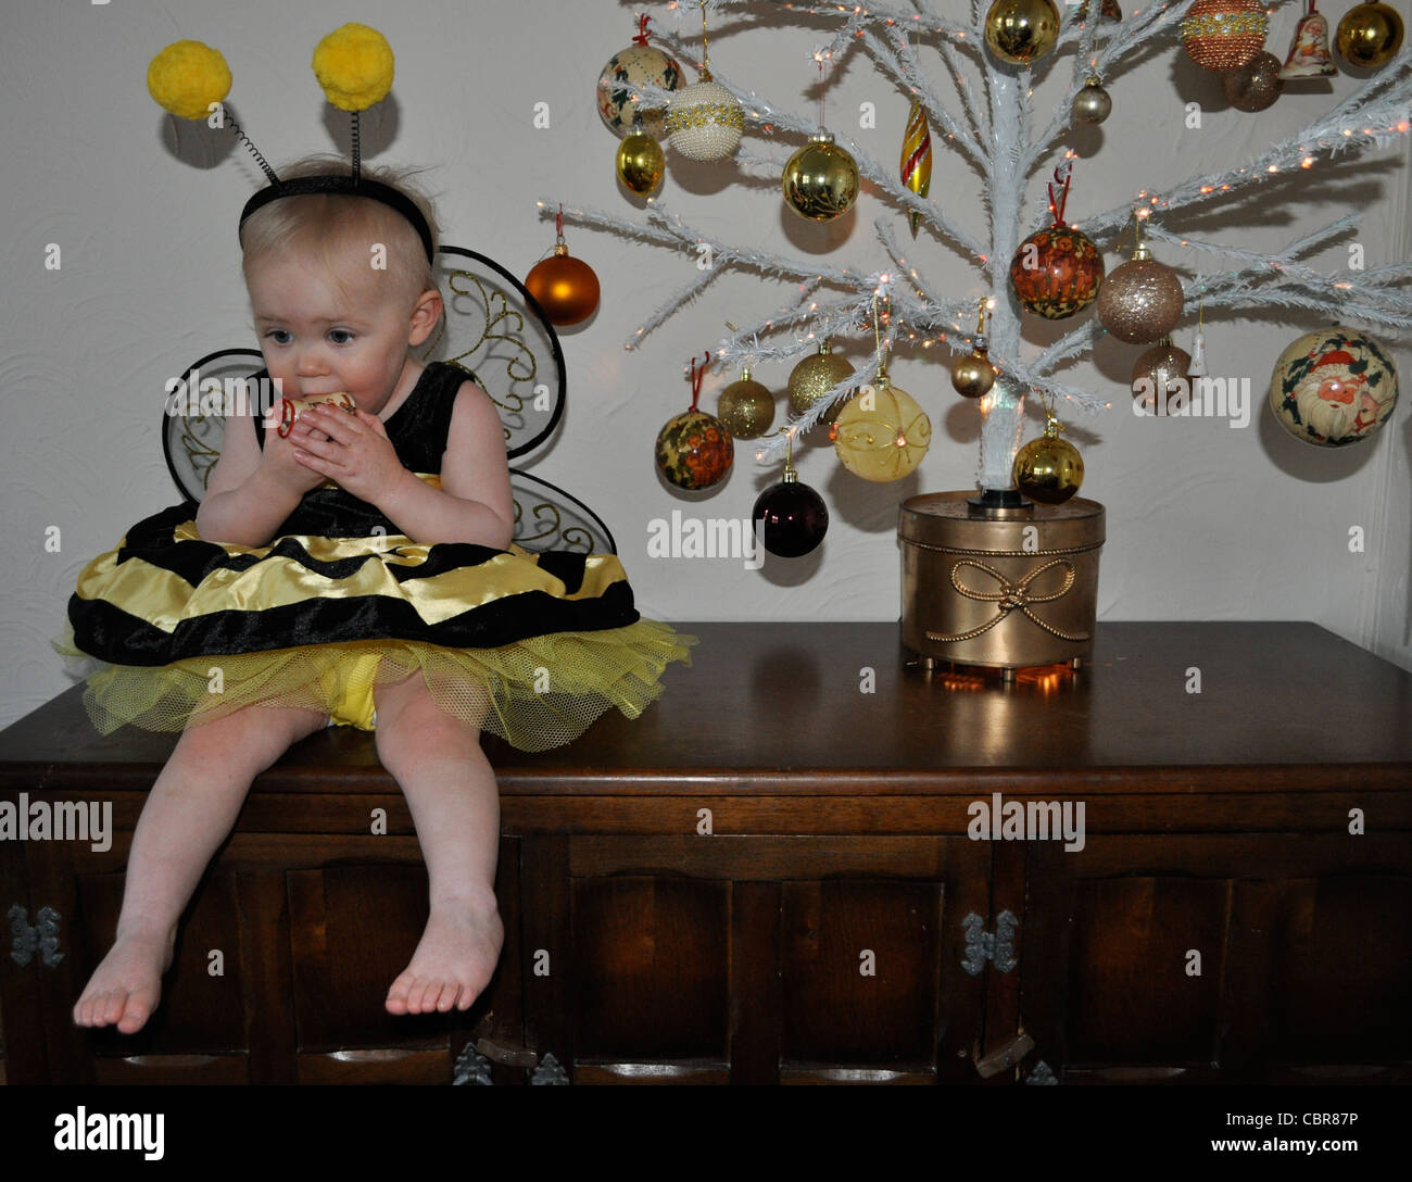
<svg viewBox="0 0 1412 1182">
<path fill-rule="evenodd" d="M 426 479 L 424 473 L 418 473 Z M 185 521 L 172 531 L 176 539 L 199 539 L 196 523 Z M 79 576 L 79 599 L 102 599 L 138 616 L 151 626 L 171 633 L 182 620 L 213 611 L 265 611 L 309 599 L 349 599 L 384 596 L 409 603 L 428 624 L 438 624 L 472 607 L 524 592 L 544 592 L 563 600 L 600 597 L 609 586 L 627 580 L 616 555 L 594 554 L 585 562 L 583 582 L 568 593 L 563 580 L 542 571 L 538 555 L 511 542 L 507 554 L 497 554 L 476 566 L 457 566 L 426 578 L 394 578 L 388 566 L 415 568 L 425 562 L 429 545 L 402 534 L 387 538 L 325 538 L 287 535 L 321 562 L 378 554 L 378 561 L 363 562 L 342 579 L 319 575 L 302 562 L 282 555 L 268 556 L 273 547 L 222 545 L 232 555 L 249 554 L 263 561 L 244 571 L 217 569 L 199 587 L 179 575 L 130 556 L 117 562 L 117 549 L 95 558 Z M 126 542 L 126 539 L 124 539 Z"/>
</svg>

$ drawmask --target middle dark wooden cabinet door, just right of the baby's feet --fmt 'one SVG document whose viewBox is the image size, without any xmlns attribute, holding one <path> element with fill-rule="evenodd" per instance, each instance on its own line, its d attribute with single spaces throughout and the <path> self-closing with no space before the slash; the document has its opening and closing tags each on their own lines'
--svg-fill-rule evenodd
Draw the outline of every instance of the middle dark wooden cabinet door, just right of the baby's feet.
<svg viewBox="0 0 1412 1182">
<path fill-rule="evenodd" d="M 952 837 L 525 837 L 525 1037 L 573 1082 L 970 1077 Z"/>
</svg>

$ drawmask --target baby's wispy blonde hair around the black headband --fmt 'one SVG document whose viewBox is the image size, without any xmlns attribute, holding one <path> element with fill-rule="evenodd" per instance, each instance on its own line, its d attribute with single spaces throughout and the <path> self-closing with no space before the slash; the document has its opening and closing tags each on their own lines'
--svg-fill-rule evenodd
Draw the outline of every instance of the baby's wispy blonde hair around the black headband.
<svg viewBox="0 0 1412 1182">
<path fill-rule="evenodd" d="M 347 161 L 336 155 L 313 155 L 275 169 L 281 181 L 297 177 L 347 174 Z M 441 227 L 431 198 L 409 184 L 419 169 L 361 167 L 361 175 L 391 185 L 421 210 L 432 232 L 432 253 L 441 243 Z M 371 267 L 376 243 L 387 247 L 387 270 Z M 240 227 L 243 267 L 270 257 L 302 251 L 323 260 L 345 297 L 366 289 L 370 278 L 390 280 L 391 298 L 411 308 L 424 291 L 435 291 L 436 275 L 426 258 L 421 236 L 401 213 L 380 201 L 343 193 L 302 193 L 281 198 L 257 209 Z"/>
</svg>

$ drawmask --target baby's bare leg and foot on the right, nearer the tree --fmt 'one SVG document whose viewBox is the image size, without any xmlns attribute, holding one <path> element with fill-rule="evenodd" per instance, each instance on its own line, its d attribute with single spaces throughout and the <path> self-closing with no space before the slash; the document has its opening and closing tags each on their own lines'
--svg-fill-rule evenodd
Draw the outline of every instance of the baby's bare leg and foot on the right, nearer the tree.
<svg viewBox="0 0 1412 1182">
<path fill-rule="evenodd" d="M 378 688 L 377 754 L 407 796 L 431 880 L 431 917 L 387 991 L 393 1014 L 469 1010 L 505 939 L 496 907 L 500 789 L 480 732 L 441 710 L 421 674 Z"/>
</svg>

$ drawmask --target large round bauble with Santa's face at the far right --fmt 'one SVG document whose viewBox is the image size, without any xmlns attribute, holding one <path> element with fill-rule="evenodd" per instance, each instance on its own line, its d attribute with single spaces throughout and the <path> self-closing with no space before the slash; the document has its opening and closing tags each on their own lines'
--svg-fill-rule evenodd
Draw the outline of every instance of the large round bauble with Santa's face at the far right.
<svg viewBox="0 0 1412 1182">
<path fill-rule="evenodd" d="M 1322 448 L 1367 439 L 1396 404 L 1398 370 L 1387 346 L 1341 325 L 1300 336 L 1269 378 L 1275 421 Z"/>
</svg>

